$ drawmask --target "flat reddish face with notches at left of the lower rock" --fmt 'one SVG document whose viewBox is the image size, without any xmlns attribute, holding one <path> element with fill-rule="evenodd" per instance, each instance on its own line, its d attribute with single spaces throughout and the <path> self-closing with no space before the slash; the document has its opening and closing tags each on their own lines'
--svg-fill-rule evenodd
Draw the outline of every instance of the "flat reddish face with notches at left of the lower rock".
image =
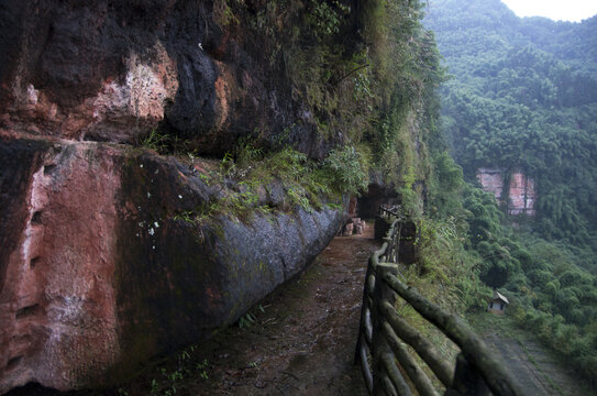
<svg viewBox="0 0 597 396">
<path fill-rule="evenodd" d="M 30 381 L 73 388 L 120 350 L 113 150 L 56 147 L 33 174 L 26 226 L 0 290 L 0 393 Z"/>
</svg>

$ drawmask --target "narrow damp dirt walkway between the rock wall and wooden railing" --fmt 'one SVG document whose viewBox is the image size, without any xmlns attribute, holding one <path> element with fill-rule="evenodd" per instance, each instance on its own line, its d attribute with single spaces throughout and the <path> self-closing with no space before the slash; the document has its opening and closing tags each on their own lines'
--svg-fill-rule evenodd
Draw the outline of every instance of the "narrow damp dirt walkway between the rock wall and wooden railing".
<svg viewBox="0 0 597 396">
<path fill-rule="evenodd" d="M 199 395 L 366 395 L 353 365 L 366 264 L 379 246 L 373 227 L 338 237 L 295 282 L 233 326 L 202 354 Z"/>
</svg>

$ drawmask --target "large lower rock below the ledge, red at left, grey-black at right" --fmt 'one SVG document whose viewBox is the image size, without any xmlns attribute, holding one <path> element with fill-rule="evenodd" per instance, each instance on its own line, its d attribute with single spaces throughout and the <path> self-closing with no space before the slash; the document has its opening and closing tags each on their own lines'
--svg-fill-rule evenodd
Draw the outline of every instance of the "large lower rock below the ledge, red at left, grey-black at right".
<svg viewBox="0 0 597 396">
<path fill-rule="evenodd" d="M 177 217 L 220 191 L 174 158 L 3 138 L 0 393 L 134 373 L 239 318 L 322 250 L 342 213 Z"/>
</svg>

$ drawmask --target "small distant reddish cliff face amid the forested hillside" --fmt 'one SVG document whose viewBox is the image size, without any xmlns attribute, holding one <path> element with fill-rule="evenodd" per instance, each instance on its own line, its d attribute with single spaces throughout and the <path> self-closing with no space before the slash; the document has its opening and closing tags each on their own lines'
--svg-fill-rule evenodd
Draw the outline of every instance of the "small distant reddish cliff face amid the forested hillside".
<svg viewBox="0 0 597 396">
<path fill-rule="evenodd" d="M 510 174 L 510 184 L 505 186 L 504 173 L 500 169 L 479 168 L 477 179 L 483 189 L 493 193 L 498 202 L 505 197 L 508 199 L 508 215 L 534 216 L 535 188 L 534 180 L 522 172 Z"/>
</svg>

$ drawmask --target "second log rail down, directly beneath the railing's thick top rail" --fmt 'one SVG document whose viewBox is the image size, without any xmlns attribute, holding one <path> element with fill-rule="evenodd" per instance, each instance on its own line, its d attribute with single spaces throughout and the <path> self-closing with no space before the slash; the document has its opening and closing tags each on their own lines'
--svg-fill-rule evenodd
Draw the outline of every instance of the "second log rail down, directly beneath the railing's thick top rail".
<svg viewBox="0 0 597 396">
<path fill-rule="evenodd" d="M 425 340 L 421 333 L 406 320 L 400 318 L 390 304 L 384 301 L 379 309 L 398 338 L 414 349 L 445 387 L 451 387 L 454 381 L 455 364 L 450 364 L 442 359 L 433 344 Z"/>
</svg>

